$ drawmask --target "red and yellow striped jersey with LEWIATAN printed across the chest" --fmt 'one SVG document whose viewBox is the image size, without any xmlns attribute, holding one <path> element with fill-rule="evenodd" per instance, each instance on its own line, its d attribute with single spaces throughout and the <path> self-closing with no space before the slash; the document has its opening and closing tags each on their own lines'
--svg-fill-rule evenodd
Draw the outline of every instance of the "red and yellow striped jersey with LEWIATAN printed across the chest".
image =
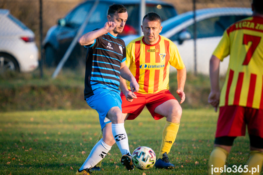
<svg viewBox="0 0 263 175">
<path fill-rule="evenodd" d="M 126 65 L 140 85 L 139 93 L 157 93 L 169 89 L 170 65 L 183 69 L 185 65 L 176 45 L 159 35 L 156 44 L 148 45 L 143 36 L 126 47 Z M 130 82 L 127 81 L 130 89 Z"/>
</svg>

